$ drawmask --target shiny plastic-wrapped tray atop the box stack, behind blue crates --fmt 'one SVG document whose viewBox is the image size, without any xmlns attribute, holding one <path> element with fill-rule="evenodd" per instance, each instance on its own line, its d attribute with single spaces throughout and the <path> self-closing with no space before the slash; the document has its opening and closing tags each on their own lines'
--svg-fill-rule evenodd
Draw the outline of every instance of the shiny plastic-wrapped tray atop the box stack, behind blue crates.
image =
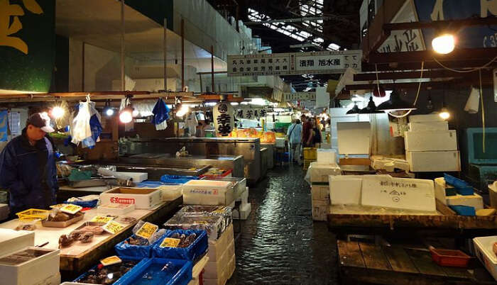
<svg viewBox="0 0 497 285">
<path fill-rule="evenodd" d="M 178 213 L 165 224 L 166 230 L 205 230 L 209 240 L 217 240 L 226 230 L 221 216 L 182 216 Z"/>
</svg>

